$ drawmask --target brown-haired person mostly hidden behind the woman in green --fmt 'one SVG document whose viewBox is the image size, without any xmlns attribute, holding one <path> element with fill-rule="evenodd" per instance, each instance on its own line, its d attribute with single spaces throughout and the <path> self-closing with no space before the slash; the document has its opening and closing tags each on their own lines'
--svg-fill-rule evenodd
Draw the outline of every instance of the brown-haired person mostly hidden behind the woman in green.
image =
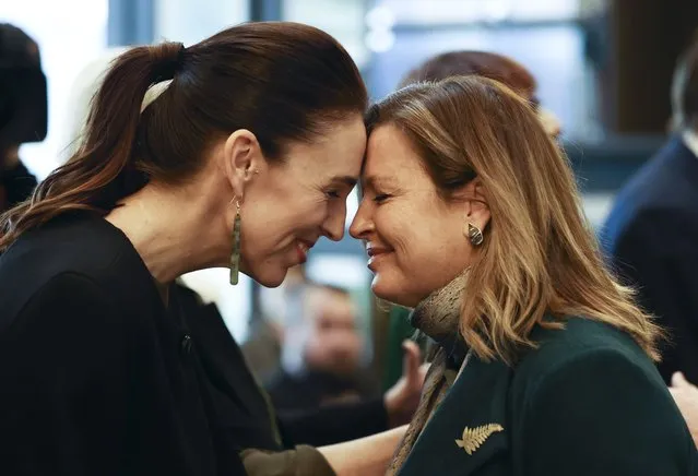
<svg viewBox="0 0 698 476">
<path fill-rule="evenodd" d="M 459 50 L 436 55 L 411 70 L 399 88 L 424 81 L 441 81 L 450 76 L 478 75 L 499 81 L 529 100 L 536 109 L 545 130 L 557 139 L 561 131 L 559 119 L 545 109 L 537 97 L 537 82 L 523 64 L 490 51 Z M 389 388 L 402 374 L 402 346 L 405 338 L 415 335 L 410 325 L 411 310 L 392 306 L 389 320 L 387 371 L 385 388 Z"/>
</svg>

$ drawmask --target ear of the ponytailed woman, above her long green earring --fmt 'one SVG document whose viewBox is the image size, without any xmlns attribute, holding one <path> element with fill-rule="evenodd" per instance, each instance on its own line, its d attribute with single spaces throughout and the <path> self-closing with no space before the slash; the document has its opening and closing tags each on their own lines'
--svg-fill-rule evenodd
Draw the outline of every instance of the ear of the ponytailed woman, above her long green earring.
<svg viewBox="0 0 698 476">
<path fill-rule="evenodd" d="M 247 129 L 238 129 L 223 146 L 223 168 L 235 197 L 242 200 L 245 187 L 265 166 L 257 136 Z"/>
</svg>

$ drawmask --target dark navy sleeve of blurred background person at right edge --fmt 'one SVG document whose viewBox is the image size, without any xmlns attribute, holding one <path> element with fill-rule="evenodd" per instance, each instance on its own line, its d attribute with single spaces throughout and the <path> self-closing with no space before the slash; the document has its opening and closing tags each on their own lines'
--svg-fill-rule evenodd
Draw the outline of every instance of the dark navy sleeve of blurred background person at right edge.
<svg viewBox="0 0 698 476">
<path fill-rule="evenodd" d="M 644 212 L 613 250 L 616 271 L 637 287 L 638 301 L 669 333 L 660 373 L 698 382 L 698 231 L 677 214 Z"/>
</svg>

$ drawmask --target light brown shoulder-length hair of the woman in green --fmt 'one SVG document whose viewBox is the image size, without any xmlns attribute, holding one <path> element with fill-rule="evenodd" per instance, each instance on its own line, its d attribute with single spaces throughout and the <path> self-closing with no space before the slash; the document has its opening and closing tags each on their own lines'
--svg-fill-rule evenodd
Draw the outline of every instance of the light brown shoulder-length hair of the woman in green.
<svg viewBox="0 0 698 476">
<path fill-rule="evenodd" d="M 461 333 L 511 362 L 534 325 L 581 316 L 629 333 L 652 357 L 660 329 L 604 267 L 570 165 L 531 105 L 498 82 L 460 76 L 407 86 L 369 109 L 369 133 L 400 128 L 445 200 L 475 177 L 490 222 L 463 295 Z M 553 317 L 552 321 L 546 317 Z"/>
</svg>

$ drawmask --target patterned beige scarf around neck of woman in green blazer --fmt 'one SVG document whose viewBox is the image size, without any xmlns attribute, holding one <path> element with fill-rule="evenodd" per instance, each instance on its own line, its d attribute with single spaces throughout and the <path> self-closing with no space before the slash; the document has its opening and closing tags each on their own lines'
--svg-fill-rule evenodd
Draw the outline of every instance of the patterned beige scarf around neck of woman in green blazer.
<svg viewBox="0 0 698 476">
<path fill-rule="evenodd" d="M 468 270 L 431 293 L 412 312 L 412 325 L 436 341 L 439 348 L 424 381 L 419 405 L 407 431 L 398 444 L 386 476 L 394 476 L 400 472 L 422 430 L 453 383 L 456 376 L 448 370 L 449 360 L 454 361 L 459 368 L 466 362 L 465 343 L 458 330 L 461 296 L 466 281 Z"/>
</svg>

